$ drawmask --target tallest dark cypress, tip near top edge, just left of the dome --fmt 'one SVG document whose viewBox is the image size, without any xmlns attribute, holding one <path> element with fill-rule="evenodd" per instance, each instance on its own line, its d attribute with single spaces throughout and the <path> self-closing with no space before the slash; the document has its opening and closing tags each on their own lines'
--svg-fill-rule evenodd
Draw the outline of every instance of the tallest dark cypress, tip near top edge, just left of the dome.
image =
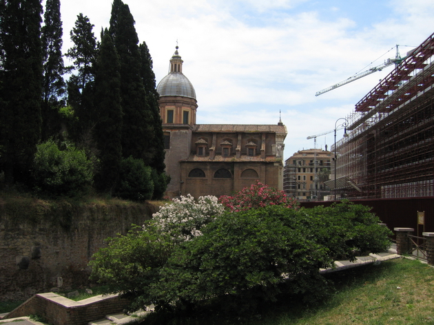
<svg viewBox="0 0 434 325">
<path fill-rule="evenodd" d="M 121 59 L 123 157 L 143 159 L 145 165 L 149 165 L 153 154 L 150 144 L 154 139 L 154 125 L 140 74 L 138 37 L 130 8 L 124 3 L 118 4 L 118 10 L 114 10 L 114 14 L 117 12 L 116 23 L 110 27 L 115 34 L 114 44 Z"/>
</svg>

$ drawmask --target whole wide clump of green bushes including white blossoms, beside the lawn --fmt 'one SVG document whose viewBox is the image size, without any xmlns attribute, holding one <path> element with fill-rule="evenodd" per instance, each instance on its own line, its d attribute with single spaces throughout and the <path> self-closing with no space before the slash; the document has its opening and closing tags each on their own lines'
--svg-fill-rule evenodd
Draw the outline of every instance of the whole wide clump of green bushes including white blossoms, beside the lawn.
<svg viewBox="0 0 434 325">
<path fill-rule="evenodd" d="M 315 303 L 330 289 L 319 269 L 338 256 L 354 258 L 355 250 L 375 253 L 390 244 L 391 231 L 369 208 L 349 202 L 298 210 L 269 205 L 223 215 L 216 212 L 223 207 L 207 197 L 172 205 L 144 231 L 110 239 L 94 255 L 92 277 L 130 296 L 131 310 L 147 304 L 183 309 L 210 300 L 243 310 L 273 302 L 282 291 Z"/>
</svg>

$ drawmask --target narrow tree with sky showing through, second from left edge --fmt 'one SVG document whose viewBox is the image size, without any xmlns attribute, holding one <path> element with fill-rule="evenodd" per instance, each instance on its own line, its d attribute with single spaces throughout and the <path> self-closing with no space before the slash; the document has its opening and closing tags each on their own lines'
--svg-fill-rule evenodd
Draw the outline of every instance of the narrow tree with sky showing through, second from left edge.
<svg viewBox="0 0 434 325">
<path fill-rule="evenodd" d="M 42 140 L 47 140 L 60 130 L 59 106 L 64 105 L 61 98 L 65 94 L 62 56 L 62 22 L 60 0 L 47 0 L 44 23 L 41 28 L 43 51 L 42 82 Z"/>
</svg>

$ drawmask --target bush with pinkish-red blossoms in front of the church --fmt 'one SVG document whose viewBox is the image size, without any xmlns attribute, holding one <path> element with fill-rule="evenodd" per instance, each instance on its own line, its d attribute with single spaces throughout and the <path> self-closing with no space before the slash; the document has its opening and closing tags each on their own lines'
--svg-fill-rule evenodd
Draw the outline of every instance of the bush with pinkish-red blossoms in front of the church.
<svg viewBox="0 0 434 325">
<path fill-rule="evenodd" d="M 267 207 L 268 205 L 282 205 L 296 209 L 297 200 L 289 198 L 284 191 L 273 189 L 256 180 L 256 184 L 245 187 L 234 196 L 220 196 L 218 199 L 230 211 L 242 211 Z"/>
</svg>

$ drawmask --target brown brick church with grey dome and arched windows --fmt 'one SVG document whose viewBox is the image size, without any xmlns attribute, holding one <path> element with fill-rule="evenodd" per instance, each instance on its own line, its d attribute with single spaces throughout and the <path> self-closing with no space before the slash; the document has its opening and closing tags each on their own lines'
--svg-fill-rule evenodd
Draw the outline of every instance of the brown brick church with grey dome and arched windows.
<svg viewBox="0 0 434 325">
<path fill-rule="evenodd" d="M 276 125 L 196 124 L 196 92 L 183 74 L 178 46 L 157 86 L 165 138 L 167 196 L 230 195 L 259 180 L 283 189 L 287 128 Z"/>
</svg>

